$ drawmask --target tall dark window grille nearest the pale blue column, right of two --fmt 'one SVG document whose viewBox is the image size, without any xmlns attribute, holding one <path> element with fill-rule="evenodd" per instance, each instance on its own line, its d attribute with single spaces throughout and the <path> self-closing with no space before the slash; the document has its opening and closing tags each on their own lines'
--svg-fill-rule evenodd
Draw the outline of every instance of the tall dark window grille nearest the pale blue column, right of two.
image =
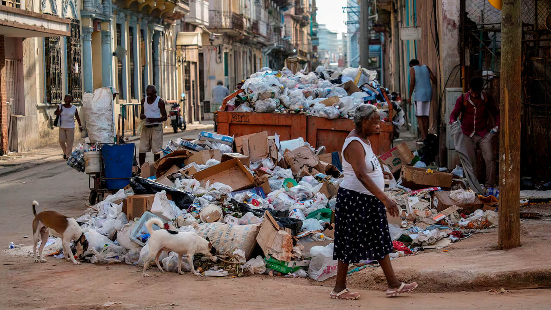
<svg viewBox="0 0 551 310">
<path fill-rule="evenodd" d="M 73 96 L 74 103 L 82 101 L 82 61 L 78 19 L 71 19 L 71 36 L 67 37 L 67 89 Z"/>
</svg>

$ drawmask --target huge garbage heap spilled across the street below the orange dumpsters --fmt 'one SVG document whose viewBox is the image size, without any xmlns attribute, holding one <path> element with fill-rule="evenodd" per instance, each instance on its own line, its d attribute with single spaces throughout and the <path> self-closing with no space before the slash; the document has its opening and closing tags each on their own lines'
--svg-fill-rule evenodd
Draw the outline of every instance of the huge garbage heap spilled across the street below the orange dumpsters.
<svg viewBox="0 0 551 310">
<path fill-rule="evenodd" d="M 195 140 L 170 141 L 165 152 L 144 163 L 125 189 L 77 218 L 89 242 L 85 260 L 152 263 L 145 261 L 150 235 L 144 224 L 156 217 L 171 230 L 212 242 L 219 261 L 196 255 L 194 262 L 205 276 L 275 274 L 323 281 L 336 274 L 338 152 L 325 154 L 324 147 L 314 149 L 303 138 L 280 141 L 266 131 L 240 137 L 201 132 Z M 421 158 L 429 160 L 425 154 L 402 143 L 379 156 L 393 175 L 385 193 L 400 207 L 399 217 L 388 217 L 392 258 L 445 247 L 498 224 L 496 197 L 466 189 L 459 168 L 452 174 L 447 168 L 418 167 Z M 55 254 L 64 253 L 58 248 Z M 160 260 L 165 270 L 177 271 L 176 253 L 163 253 Z M 187 264 L 182 261 L 182 270 L 191 270 Z"/>
</svg>

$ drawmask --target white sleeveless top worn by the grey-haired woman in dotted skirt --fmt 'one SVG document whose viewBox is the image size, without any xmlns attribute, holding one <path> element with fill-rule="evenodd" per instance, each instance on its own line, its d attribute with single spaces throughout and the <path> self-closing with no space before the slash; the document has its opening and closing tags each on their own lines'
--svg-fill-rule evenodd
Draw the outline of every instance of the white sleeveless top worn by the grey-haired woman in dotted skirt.
<svg viewBox="0 0 551 310">
<path fill-rule="evenodd" d="M 350 142 L 354 140 L 360 141 L 361 145 L 364 146 L 365 165 L 367 167 L 366 172 L 368 173 L 368 176 L 371 178 L 371 180 L 374 181 L 377 187 L 379 187 L 381 190 L 385 189 L 385 178 L 383 178 L 382 168 L 381 164 L 379 163 L 379 159 L 377 159 L 377 156 L 375 156 L 375 153 L 373 153 L 371 146 L 365 144 L 365 142 L 361 141 L 359 137 L 348 137 L 346 138 L 346 140 L 344 140 L 342 150 L 344 179 L 341 182 L 341 187 L 343 189 L 353 190 L 357 191 L 358 193 L 374 196 L 370 193 L 368 189 L 365 188 L 363 184 L 361 184 L 360 180 L 356 178 L 356 174 L 354 173 L 354 169 L 352 169 L 352 165 L 350 165 L 344 158 L 344 150 L 347 148 Z"/>
</svg>

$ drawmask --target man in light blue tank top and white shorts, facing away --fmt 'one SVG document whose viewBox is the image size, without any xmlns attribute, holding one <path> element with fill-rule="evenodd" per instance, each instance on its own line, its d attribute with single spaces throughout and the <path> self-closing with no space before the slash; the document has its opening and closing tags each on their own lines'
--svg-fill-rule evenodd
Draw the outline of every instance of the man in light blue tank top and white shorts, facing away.
<svg viewBox="0 0 551 310">
<path fill-rule="evenodd" d="M 436 85 L 436 77 L 430 68 L 421 65 L 417 59 L 409 62 L 409 104 L 414 103 L 415 116 L 421 131 L 421 138 L 418 142 L 425 140 L 429 133 L 430 101 L 433 100 L 433 87 L 430 82 Z"/>
</svg>

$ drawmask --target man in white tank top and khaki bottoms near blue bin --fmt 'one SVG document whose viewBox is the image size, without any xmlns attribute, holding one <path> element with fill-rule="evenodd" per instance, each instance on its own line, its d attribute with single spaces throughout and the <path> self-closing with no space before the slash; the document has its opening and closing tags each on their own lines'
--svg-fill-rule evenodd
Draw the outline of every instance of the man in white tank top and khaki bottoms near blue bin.
<svg viewBox="0 0 551 310">
<path fill-rule="evenodd" d="M 142 114 L 145 126 L 139 137 L 139 165 L 145 162 L 145 153 L 152 151 L 155 161 L 161 156 L 157 154 L 163 145 L 163 122 L 166 121 L 165 101 L 157 95 L 155 86 L 149 85 L 145 90 L 147 97 L 142 99 Z"/>
</svg>

